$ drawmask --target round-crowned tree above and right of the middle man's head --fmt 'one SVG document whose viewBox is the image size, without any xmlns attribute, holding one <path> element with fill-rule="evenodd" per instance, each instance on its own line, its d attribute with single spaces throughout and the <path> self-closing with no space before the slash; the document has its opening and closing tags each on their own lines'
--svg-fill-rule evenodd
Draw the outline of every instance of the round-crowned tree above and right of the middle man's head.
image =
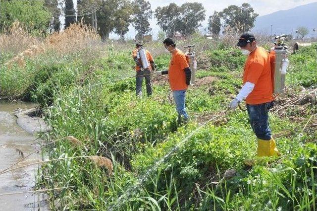
<svg viewBox="0 0 317 211">
<path fill-rule="evenodd" d="M 176 28 L 183 35 L 194 33 L 201 27 L 201 21 L 205 20 L 205 12 L 202 3 L 184 3 L 181 5 L 181 17 L 176 23 Z"/>
</svg>

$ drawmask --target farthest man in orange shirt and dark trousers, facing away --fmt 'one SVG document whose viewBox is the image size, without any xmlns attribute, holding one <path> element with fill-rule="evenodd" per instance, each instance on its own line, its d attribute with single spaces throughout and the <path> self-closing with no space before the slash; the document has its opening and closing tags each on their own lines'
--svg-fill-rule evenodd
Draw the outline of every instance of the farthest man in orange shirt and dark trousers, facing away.
<svg viewBox="0 0 317 211">
<path fill-rule="evenodd" d="M 150 67 L 148 67 L 147 69 L 142 68 L 141 59 L 138 58 L 138 51 L 141 48 L 141 46 L 143 46 L 143 44 L 141 42 L 138 42 L 136 44 L 136 49 L 134 49 L 132 52 L 132 57 L 133 57 L 133 60 L 136 64 L 135 70 L 137 71 L 136 76 L 135 76 L 136 95 L 138 97 L 142 96 L 142 83 L 143 83 L 143 78 L 145 77 L 145 82 L 146 82 L 146 86 L 147 86 L 147 94 L 149 97 L 152 95 L 151 70 L 155 70 L 156 66 L 155 66 L 152 55 L 150 54 L 150 52 L 148 50 L 146 50 L 146 55 L 147 55 L 147 59 L 148 59 L 148 62 L 150 64 Z"/>
</svg>

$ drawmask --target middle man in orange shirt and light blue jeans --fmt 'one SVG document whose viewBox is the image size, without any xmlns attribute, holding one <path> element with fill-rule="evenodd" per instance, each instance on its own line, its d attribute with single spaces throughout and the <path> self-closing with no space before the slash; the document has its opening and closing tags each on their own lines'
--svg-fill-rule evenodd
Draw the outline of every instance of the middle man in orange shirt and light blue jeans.
<svg viewBox="0 0 317 211">
<path fill-rule="evenodd" d="M 161 74 L 168 74 L 170 88 L 173 92 L 173 98 L 178 113 L 178 122 L 187 123 L 188 114 L 185 107 L 185 94 L 190 84 L 191 70 L 186 60 L 185 54 L 176 48 L 176 43 L 171 38 L 163 41 L 167 52 L 172 54 L 168 70 L 161 71 Z"/>
</svg>

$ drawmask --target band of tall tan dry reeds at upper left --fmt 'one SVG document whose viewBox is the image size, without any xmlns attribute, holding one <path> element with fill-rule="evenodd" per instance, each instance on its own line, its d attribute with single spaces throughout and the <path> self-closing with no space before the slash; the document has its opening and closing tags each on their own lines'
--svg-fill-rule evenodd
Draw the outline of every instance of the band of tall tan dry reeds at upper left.
<svg viewBox="0 0 317 211">
<path fill-rule="evenodd" d="M 46 50 L 59 55 L 85 51 L 83 58 L 89 60 L 92 53 L 98 54 L 104 47 L 98 33 L 83 23 L 72 24 L 64 31 L 54 32 L 43 40 L 32 36 L 16 21 L 8 31 L 0 35 L 0 52 L 17 55 L 6 63 L 9 68 L 13 64 L 24 67 L 26 58 L 33 58 Z"/>
</svg>

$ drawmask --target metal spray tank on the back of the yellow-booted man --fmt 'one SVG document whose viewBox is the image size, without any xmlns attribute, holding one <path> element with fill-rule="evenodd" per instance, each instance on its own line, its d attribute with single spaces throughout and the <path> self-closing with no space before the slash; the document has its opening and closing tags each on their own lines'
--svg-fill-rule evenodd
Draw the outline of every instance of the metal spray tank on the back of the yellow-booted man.
<svg viewBox="0 0 317 211">
<path fill-rule="evenodd" d="M 284 45 L 286 35 L 276 36 L 275 46 L 271 49 L 271 54 L 275 56 L 274 60 L 274 90 L 275 94 L 283 93 L 285 90 L 285 76 L 288 67 L 288 59 L 286 58 L 287 46 Z M 283 38 L 283 39 L 282 39 Z"/>
</svg>

